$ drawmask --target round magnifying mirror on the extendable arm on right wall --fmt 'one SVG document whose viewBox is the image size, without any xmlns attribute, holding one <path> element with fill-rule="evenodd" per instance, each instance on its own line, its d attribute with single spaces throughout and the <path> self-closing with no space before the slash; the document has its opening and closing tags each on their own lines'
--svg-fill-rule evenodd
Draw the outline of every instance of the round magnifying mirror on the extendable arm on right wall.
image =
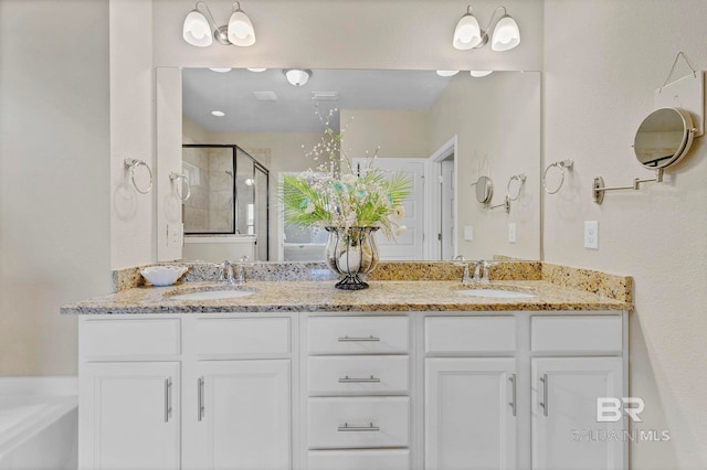
<svg viewBox="0 0 707 470">
<path fill-rule="evenodd" d="M 646 117 L 633 142 L 639 163 L 648 169 L 677 163 L 693 143 L 695 129 L 690 115 L 677 108 L 661 108 Z"/>
</svg>

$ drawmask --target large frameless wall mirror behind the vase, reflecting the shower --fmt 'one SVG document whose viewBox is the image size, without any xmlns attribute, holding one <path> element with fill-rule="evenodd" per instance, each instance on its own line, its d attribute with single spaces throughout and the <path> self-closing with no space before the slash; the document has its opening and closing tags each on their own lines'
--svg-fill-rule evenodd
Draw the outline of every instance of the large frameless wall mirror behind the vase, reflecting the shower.
<svg viewBox="0 0 707 470">
<path fill-rule="evenodd" d="M 257 247 L 244 252 L 252 259 L 323 259 L 321 233 L 283 226 L 277 186 L 282 174 L 316 167 L 308 153 L 328 121 L 335 132 L 344 131 L 349 158 L 378 149 L 381 165 L 415 179 L 414 197 L 405 211 L 409 231 L 389 249 L 381 247 L 383 259 L 539 259 L 540 88 L 536 72 L 494 72 L 475 78 L 468 72 L 440 76 L 435 71 L 313 70 L 307 83 L 296 86 L 282 68 L 184 68 L 182 170 L 191 165 L 193 172 L 188 153 L 193 146 L 238 146 L 267 170 L 270 212 L 267 204 L 253 209 L 251 203 L 257 214 L 249 216 L 245 209 L 245 218 L 254 224 L 246 233 L 211 242 L 204 234 L 188 235 L 183 256 L 222 260 L 187 248 L 223 244 L 226 236 L 247 247 L 244 242 L 254 236 Z M 218 174 L 219 182 L 233 181 L 225 178 L 226 171 Z M 509 184 L 520 174 L 520 188 Z M 487 204 L 476 200 L 474 183 L 481 177 L 494 186 Z M 236 181 L 235 197 L 226 197 L 236 205 L 238 185 Z M 503 202 L 509 186 L 514 201 L 507 211 Z M 231 250 L 226 257 L 240 254 Z"/>
</svg>

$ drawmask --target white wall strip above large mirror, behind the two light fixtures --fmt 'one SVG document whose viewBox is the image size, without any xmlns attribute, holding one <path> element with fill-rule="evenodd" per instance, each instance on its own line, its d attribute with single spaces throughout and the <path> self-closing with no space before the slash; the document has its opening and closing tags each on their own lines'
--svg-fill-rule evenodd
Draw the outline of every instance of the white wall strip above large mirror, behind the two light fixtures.
<svg viewBox="0 0 707 470">
<path fill-rule="evenodd" d="M 208 3 L 217 22 L 225 24 L 233 2 Z M 254 45 L 193 47 L 181 39 L 181 24 L 194 7 L 193 0 L 154 0 L 155 63 L 188 67 L 540 70 L 541 0 L 474 2 L 474 12 L 484 25 L 499 4 L 521 25 L 523 44 L 503 54 L 490 47 L 451 47 L 454 26 L 466 4 L 458 0 L 246 0 L 241 6 L 253 21 Z"/>
</svg>

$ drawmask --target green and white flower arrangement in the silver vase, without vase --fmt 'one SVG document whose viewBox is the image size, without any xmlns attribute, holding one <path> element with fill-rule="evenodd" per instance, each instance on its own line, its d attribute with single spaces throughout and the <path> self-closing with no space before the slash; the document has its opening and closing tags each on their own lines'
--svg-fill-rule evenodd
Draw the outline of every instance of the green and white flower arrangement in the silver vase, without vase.
<svg viewBox="0 0 707 470">
<path fill-rule="evenodd" d="M 336 111 L 336 108 L 329 111 L 329 119 Z M 308 153 L 318 161 L 317 168 L 283 178 L 281 196 L 285 221 L 345 231 L 378 227 L 388 239 L 394 239 L 405 229 L 399 221 L 404 215 L 402 204 L 410 195 L 412 182 L 403 173 L 391 174 L 376 168 L 378 149 L 372 156 L 367 152 L 365 168 L 357 174 L 342 150 L 342 135 L 348 126 L 335 133 L 329 119 L 323 119 L 325 133 Z"/>
</svg>

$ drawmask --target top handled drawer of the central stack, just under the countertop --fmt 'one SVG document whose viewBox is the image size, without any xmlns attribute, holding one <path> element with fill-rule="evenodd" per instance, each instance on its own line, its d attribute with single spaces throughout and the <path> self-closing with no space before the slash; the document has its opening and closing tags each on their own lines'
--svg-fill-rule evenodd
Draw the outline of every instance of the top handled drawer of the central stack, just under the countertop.
<svg viewBox="0 0 707 470">
<path fill-rule="evenodd" d="M 309 319 L 310 354 L 408 352 L 408 317 L 314 317 Z"/>
</svg>

